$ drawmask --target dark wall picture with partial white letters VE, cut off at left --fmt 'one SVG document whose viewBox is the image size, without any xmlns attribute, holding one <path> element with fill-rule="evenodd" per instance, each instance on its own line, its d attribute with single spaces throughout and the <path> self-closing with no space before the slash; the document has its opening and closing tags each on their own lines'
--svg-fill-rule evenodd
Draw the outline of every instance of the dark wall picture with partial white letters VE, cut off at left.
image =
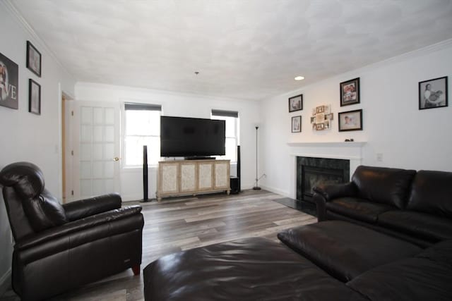
<svg viewBox="0 0 452 301">
<path fill-rule="evenodd" d="M 19 107 L 19 68 L 16 63 L 0 53 L 0 106 Z"/>
</svg>

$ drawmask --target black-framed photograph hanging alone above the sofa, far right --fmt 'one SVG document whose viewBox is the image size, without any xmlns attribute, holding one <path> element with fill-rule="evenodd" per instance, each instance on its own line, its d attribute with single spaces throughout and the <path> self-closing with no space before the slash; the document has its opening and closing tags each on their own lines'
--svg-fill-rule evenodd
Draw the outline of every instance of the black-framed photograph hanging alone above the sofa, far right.
<svg viewBox="0 0 452 301">
<path fill-rule="evenodd" d="M 419 82 L 419 109 L 448 106 L 447 83 L 447 76 Z"/>
</svg>

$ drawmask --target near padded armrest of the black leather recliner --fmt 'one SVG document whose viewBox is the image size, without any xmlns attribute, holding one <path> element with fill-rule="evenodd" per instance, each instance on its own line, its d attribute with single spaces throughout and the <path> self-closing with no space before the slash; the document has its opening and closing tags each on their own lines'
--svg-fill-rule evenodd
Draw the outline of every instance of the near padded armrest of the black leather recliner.
<svg viewBox="0 0 452 301">
<path fill-rule="evenodd" d="M 119 227 L 111 226 L 111 223 L 129 219 L 133 216 L 138 218 L 133 222 L 120 223 Z M 109 225 L 107 225 L 110 223 Z M 74 245 L 81 245 L 100 237 L 107 237 L 118 233 L 124 233 L 136 228 L 143 228 L 143 214 L 141 206 L 124 207 L 114 209 L 102 214 L 89 216 L 85 219 L 65 223 L 64 225 L 49 228 L 35 235 L 28 235 L 23 240 L 16 242 L 14 250 L 21 252 L 35 247 L 38 252 L 53 254 L 61 250 L 69 249 Z M 104 226 L 105 227 L 102 227 Z M 47 243 L 49 242 L 49 243 Z M 46 245 L 45 247 L 44 245 Z"/>
</svg>

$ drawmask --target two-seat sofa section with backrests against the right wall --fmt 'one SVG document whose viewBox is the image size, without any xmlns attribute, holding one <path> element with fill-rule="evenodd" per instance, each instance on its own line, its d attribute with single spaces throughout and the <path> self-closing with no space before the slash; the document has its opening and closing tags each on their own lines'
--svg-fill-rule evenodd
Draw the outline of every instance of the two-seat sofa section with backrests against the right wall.
<svg viewBox="0 0 452 301">
<path fill-rule="evenodd" d="M 359 166 L 314 188 L 319 221 L 340 219 L 428 247 L 452 239 L 452 173 Z"/>
</svg>

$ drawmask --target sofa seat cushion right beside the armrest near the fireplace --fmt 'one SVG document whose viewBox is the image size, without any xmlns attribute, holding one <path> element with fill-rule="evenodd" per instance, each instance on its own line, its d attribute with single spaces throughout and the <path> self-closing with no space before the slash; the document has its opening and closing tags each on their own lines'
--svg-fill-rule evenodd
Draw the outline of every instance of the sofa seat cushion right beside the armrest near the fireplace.
<svg viewBox="0 0 452 301">
<path fill-rule="evenodd" d="M 396 207 L 368 202 L 366 199 L 358 199 L 356 197 L 341 197 L 340 199 L 327 202 L 326 209 L 359 221 L 376 223 L 379 214 L 396 209 Z"/>
</svg>

